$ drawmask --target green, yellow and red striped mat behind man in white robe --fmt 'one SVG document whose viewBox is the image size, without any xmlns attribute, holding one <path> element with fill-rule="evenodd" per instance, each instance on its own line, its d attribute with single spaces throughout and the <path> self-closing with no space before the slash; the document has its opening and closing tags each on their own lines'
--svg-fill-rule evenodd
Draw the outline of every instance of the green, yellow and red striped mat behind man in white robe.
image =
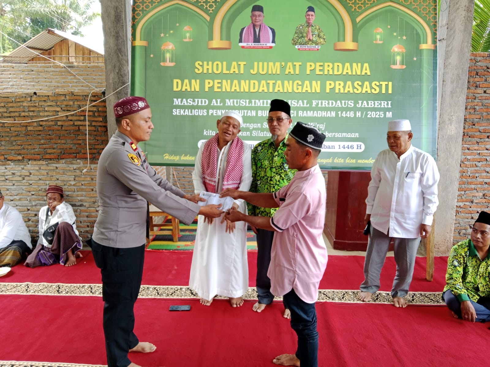
<svg viewBox="0 0 490 367">
<path fill-rule="evenodd" d="M 196 242 L 197 220 L 190 226 L 180 224 L 180 234 L 178 242 L 172 241 L 171 234 L 158 234 L 153 237 L 147 250 L 194 250 Z M 255 233 L 249 229 L 246 233 L 246 248 L 248 251 L 257 251 L 257 237 Z"/>
</svg>

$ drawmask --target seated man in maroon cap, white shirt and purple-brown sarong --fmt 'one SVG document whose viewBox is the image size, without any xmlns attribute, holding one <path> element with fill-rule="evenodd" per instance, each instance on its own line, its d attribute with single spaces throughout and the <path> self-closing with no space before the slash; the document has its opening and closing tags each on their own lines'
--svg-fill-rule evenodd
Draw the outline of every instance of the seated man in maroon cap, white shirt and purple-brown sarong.
<svg viewBox="0 0 490 367">
<path fill-rule="evenodd" d="M 24 265 L 34 268 L 41 265 L 76 264 L 75 256 L 82 248 L 75 225 L 75 214 L 63 199 L 63 187 L 51 185 L 46 191 L 47 206 L 39 211 L 39 241 Z"/>
</svg>

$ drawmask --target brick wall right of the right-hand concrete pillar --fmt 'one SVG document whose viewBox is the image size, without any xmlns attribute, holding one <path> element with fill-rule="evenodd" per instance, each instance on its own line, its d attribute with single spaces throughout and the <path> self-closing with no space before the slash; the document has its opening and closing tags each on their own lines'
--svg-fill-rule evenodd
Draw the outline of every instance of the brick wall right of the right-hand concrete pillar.
<svg viewBox="0 0 490 367">
<path fill-rule="evenodd" d="M 490 53 L 472 53 L 468 70 L 465 126 L 454 243 L 469 235 L 481 210 L 490 209 Z"/>
</svg>

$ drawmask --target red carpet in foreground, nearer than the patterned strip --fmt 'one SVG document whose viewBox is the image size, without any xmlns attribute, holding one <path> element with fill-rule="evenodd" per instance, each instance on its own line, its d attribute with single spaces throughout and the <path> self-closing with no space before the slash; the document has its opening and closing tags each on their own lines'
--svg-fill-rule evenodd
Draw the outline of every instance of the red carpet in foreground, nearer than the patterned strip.
<svg viewBox="0 0 490 367">
<path fill-rule="evenodd" d="M 95 297 L 1 296 L 1 359 L 105 364 L 102 304 Z M 170 312 L 171 304 L 192 309 Z M 138 300 L 135 332 L 157 350 L 131 358 L 148 367 L 274 366 L 273 357 L 294 352 L 295 334 L 280 303 L 261 314 L 252 304 Z M 488 366 L 488 325 L 455 320 L 443 307 L 323 302 L 317 311 L 322 367 Z"/>
</svg>

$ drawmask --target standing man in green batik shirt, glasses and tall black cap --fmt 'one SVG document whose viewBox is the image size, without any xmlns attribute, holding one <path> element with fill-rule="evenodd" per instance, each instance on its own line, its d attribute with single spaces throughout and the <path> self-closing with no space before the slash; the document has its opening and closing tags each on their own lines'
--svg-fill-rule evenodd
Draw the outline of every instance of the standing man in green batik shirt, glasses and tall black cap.
<svg viewBox="0 0 490 367">
<path fill-rule="evenodd" d="M 284 157 L 288 129 L 291 126 L 291 106 L 282 99 L 270 101 L 267 123 L 271 138 L 261 141 L 252 149 L 252 184 L 250 192 L 277 192 L 282 186 L 289 184 L 293 179 L 295 169 L 289 169 Z M 247 203 L 248 215 L 272 217 L 275 208 L 263 208 Z M 267 229 L 252 227 L 257 234 L 257 277 L 256 287 L 258 302 L 252 309 L 261 312 L 272 302 L 274 296 L 270 293 L 270 278 L 267 276 L 270 264 L 270 250 L 274 232 Z M 291 318 L 288 309 L 284 317 Z"/>
</svg>

